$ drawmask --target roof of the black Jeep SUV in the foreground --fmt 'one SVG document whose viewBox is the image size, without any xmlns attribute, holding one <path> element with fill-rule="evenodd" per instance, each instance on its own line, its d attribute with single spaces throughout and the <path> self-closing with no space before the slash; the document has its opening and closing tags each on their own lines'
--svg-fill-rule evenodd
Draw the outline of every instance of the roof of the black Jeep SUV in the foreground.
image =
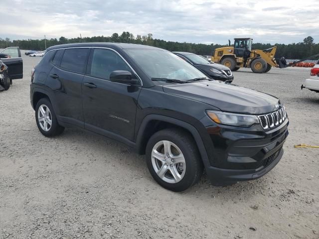
<svg viewBox="0 0 319 239">
<path fill-rule="evenodd" d="M 158 47 L 140 45 L 140 44 L 132 44 L 132 43 L 115 43 L 115 42 L 82 42 L 82 43 L 69 43 L 62 45 L 51 46 L 47 49 L 60 49 L 60 48 L 68 48 L 68 47 L 109 47 L 113 49 L 153 49 L 153 50 L 163 50 Z"/>
</svg>

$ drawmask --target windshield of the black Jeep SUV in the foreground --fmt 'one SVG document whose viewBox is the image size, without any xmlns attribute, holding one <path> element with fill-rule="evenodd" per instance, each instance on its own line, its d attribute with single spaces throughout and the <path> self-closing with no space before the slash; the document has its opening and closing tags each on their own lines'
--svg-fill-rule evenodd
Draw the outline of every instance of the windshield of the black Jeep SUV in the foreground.
<svg viewBox="0 0 319 239">
<path fill-rule="evenodd" d="M 207 78 L 201 71 L 169 51 L 126 49 L 125 52 L 134 59 L 150 78 L 180 81 Z"/>
</svg>

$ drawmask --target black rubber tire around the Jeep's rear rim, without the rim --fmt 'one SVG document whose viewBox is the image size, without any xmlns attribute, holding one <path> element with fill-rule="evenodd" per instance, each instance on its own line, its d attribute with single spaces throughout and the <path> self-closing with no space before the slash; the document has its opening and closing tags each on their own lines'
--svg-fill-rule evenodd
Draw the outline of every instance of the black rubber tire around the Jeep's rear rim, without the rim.
<svg viewBox="0 0 319 239">
<path fill-rule="evenodd" d="M 40 106 L 42 106 L 42 105 L 46 106 L 49 109 L 49 111 L 50 111 L 52 125 L 51 125 L 51 127 L 49 128 L 48 131 L 45 131 L 45 130 L 43 130 L 41 128 L 40 123 L 39 123 L 39 119 L 38 119 L 38 110 L 39 110 Z M 62 126 L 60 126 L 58 124 L 58 121 L 56 119 L 55 112 L 54 112 L 54 109 L 52 107 L 52 104 L 49 101 L 49 99 L 47 99 L 47 98 L 41 98 L 38 101 L 38 103 L 36 104 L 36 107 L 35 107 L 35 120 L 36 120 L 36 124 L 37 124 L 40 132 L 46 137 L 52 137 L 52 136 L 59 135 L 64 130 L 64 127 L 62 127 Z"/>
</svg>

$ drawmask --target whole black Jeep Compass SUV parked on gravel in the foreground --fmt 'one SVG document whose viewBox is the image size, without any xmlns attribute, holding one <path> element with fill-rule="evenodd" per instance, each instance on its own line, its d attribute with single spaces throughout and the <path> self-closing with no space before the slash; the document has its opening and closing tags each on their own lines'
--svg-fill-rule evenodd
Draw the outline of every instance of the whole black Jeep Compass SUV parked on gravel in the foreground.
<svg viewBox="0 0 319 239">
<path fill-rule="evenodd" d="M 48 48 L 30 100 L 45 136 L 81 127 L 146 154 L 163 187 L 183 191 L 206 170 L 213 185 L 252 180 L 283 155 L 285 107 L 270 95 L 208 79 L 173 53 L 144 45 Z"/>
</svg>

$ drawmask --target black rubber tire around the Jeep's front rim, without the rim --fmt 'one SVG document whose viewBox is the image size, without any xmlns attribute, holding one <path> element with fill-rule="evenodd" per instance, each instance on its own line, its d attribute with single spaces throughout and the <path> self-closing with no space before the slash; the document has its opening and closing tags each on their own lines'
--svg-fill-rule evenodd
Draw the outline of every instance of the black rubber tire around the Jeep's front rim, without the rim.
<svg viewBox="0 0 319 239">
<path fill-rule="evenodd" d="M 175 144 L 185 159 L 185 172 L 177 183 L 168 183 L 159 177 L 152 163 L 153 147 L 162 140 Z M 167 128 L 156 132 L 146 146 L 146 161 L 149 171 L 155 181 L 163 188 L 174 192 L 181 192 L 198 182 L 203 174 L 203 163 L 193 138 L 185 131 L 176 128 Z M 168 171 L 167 171 L 168 172 Z M 167 173 L 165 173 L 166 175 Z"/>
</svg>

